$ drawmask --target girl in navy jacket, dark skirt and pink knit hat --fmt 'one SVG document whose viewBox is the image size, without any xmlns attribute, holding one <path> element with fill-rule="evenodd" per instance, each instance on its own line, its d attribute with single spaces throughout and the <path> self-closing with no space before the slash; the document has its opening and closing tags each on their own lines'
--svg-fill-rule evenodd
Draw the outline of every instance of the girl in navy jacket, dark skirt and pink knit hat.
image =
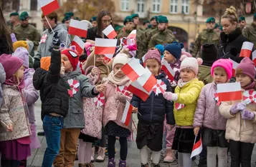
<svg viewBox="0 0 256 167">
<path fill-rule="evenodd" d="M 166 91 L 171 91 L 171 85 L 165 74 L 161 73 L 161 55 L 158 50 L 148 50 L 145 56 L 146 67 L 151 71 L 156 79 L 166 84 Z M 152 92 L 144 102 L 138 96 L 133 95 L 133 111 L 138 111 L 138 132 L 136 143 L 141 152 L 141 166 L 148 167 L 148 148 L 152 151 L 153 167 L 159 166 L 162 140 L 163 121 L 166 116 L 168 129 L 175 125 L 174 104 L 166 101 L 163 94 Z"/>
</svg>

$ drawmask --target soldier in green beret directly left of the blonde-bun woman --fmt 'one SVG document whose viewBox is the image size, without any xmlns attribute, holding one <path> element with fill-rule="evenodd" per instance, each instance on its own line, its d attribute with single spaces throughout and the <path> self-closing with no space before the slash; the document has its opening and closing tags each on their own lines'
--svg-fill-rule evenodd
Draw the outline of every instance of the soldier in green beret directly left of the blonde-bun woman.
<svg viewBox="0 0 256 167">
<path fill-rule="evenodd" d="M 215 46 L 219 47 L 220 36 L 219 33 L 214 31 L 215 19 L 210 17 L 206 22 L 207 29 L 199 33 L 194 43 L 194 48 L 191 53 L 193 57 L 196 57 L 197 53 L 201 49 L 201 46 L 204 44 L 214 44 Z M 199 57 L 201 57 L 201 55 L 199 55 Z"/>
</svg>

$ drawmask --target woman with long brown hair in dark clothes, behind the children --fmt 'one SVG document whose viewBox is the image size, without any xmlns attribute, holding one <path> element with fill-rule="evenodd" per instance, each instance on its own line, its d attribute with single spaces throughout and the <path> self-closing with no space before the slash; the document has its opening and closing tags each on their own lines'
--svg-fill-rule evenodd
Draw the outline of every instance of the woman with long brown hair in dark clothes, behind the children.
<svg viewBox="0 0 256 167">
<path fill-rule="evenodd" d="M 95 41 L 95 38 L 108 39 L 107 36 L 103 34 L 103 29 L 112 24 L 112 16 L 109 11 L 100 11 L 97 17 L 98 26 L 88 29 L 87 39 Z"/>
</svg>

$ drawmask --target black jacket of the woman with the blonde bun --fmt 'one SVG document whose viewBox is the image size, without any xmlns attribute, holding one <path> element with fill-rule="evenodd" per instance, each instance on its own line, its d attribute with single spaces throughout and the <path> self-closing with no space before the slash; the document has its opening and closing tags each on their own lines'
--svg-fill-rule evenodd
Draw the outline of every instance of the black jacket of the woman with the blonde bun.
<svg viewBox="0 0 256 167">
<path fill-rule="evenodd" d="M 245 36 L 242 35 L 240 28 L 235 29 L 232 33 L 226 35 L 224 32 L 220 34 L 220 47 L 218 49 L 219 59 L 232 59 L 237 63 L 243 59 L 240 57 L 240 51 L 242 49 L 242 44 L 245 41 L 249 41 Z M 235 51 L 232 51 L 234 49 Z"/>
</svg>

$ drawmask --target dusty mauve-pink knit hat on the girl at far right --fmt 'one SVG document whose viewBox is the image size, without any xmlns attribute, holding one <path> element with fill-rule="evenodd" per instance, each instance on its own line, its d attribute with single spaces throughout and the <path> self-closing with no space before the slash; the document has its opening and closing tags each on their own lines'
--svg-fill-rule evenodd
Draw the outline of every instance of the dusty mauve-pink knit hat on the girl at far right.
<svg viewBox="0 0 256 167">
<path fill-rule="evenodd" d="M 240 64 L 237 66 L 237 69 L 235 70 L 235 74 L 245 74 L 247 76 L 249 76 L 252 80 L 255 79 L 255 64 L 253 63 L 253 61 L 248 58 L 245 57 L 244 59 L 242 59 L 242 61 L 240 62 Z"/>
</svg>

